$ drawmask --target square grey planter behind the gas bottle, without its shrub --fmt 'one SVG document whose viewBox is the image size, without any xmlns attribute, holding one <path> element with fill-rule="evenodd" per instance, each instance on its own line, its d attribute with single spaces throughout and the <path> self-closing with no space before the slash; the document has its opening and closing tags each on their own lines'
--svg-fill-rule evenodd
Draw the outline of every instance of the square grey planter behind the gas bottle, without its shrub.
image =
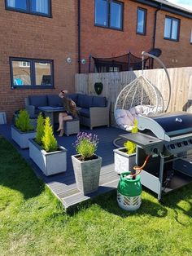
<svg viewBox="0 0 192 256">
<path fill-rule="evenodd" d="M 136 162 L 136 153 L 128 155 L 126 153 L 126 148 L 117 148 L 113 150 L 114 152 L 114 162 L 115 171 L 121 174 L 124 171 L 133 170 Z"/>
</svg>

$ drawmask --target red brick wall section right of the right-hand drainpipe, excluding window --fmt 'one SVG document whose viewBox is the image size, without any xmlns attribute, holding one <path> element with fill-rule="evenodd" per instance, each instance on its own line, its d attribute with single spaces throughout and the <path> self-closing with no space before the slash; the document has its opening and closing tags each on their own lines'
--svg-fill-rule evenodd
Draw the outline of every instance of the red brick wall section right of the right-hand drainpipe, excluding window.
<svg viewBox="0 0 192 256">
<path fill-rule="evenodd" d="M 165 15 L 181 20 L 179 42 L 164 39 Z M 162 50 L 160 59 L 167 68 L 189 67 L 192 65 L 192 44 L 190 43 L 191 29 L 192 19 L 187 19 L 165 11 L 158 12 L 155 47 Z"/>
</svg>

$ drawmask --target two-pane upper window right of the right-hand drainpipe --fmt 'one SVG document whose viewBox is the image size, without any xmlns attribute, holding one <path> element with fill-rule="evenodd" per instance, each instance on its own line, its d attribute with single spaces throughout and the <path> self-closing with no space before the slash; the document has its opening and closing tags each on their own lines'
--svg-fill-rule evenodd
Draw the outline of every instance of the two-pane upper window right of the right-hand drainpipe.
<svg viewBox="0 0 192 256">
<path fill-rule="evenodd" d="M 164 39 L 179 40 L 180 20 L 166 17 L 164 22 Z"/>
</svg>

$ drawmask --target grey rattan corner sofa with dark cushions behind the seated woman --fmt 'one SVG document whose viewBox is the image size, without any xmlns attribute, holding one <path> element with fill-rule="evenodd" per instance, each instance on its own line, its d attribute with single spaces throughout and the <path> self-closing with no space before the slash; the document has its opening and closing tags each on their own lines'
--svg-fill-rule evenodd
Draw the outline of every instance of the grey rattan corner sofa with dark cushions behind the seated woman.
<svg viewBox="0 0 192 256">
<path fill-rule="evenodd" d="M 106 97 L 78 93 L 69 94 L 68 97 L 76 103 L 81 125 L 89 126 L 91 130 L 96 126 L 109 126 L 110 104 Z M 62 99 L 58 95 L 28 95 L 24 102 L 30 117 L 37 117 L 40 112 L 38 107 L 62 106 Z"/>
</svg>

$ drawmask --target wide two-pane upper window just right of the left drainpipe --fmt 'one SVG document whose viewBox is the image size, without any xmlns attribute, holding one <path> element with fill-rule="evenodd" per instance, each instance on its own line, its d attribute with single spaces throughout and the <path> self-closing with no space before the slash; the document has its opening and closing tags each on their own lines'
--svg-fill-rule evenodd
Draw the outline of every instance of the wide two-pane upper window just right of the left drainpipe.
<svg viewBox="0 0 192 256">
<path fill-rule="evenodd" d="M 123 29 L 123 2 L 95 0 L 94 24 L 110 29 Z"/>
</svg>

